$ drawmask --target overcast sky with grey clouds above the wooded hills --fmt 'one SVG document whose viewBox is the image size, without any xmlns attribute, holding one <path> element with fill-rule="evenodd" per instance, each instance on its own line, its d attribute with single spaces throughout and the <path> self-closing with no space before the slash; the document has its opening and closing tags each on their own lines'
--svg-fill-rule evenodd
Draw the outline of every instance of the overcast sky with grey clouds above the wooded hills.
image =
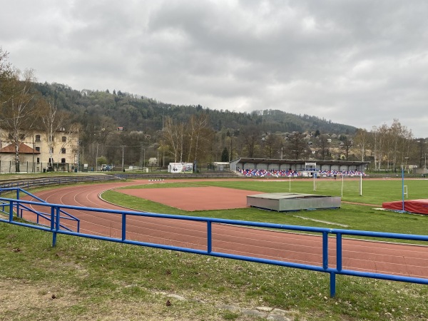
<svg viewBox="0 0 428 321">
<path fill-rule="evenodd" d="M 0 0 L 0 46 L 39 82 L 428 137 L 427 17 L 426 0 Z"/>
</svg>

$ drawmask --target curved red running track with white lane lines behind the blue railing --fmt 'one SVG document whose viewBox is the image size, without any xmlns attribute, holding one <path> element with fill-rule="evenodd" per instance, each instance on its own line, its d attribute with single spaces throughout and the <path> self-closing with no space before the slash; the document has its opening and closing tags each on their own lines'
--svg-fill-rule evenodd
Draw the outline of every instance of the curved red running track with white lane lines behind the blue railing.
<svg viewBox="0 0 428 321">
<path fill-rule="evenodd" d="M 147 180 L 136 180 L 127 183 L 72 186 L 46 190 L 36 195 L 49 203 L 123 210 L 117 205 L 106 203 L 98 195 L 111 188 L 146 183 Z M 215 202 L 215 199 L 212 201 Z M 120 215 L 77 210 L 68 213 L 81 219 L 81 233 L 116 238 L 121 235 Z M 128 217 L 127 238 L 206 250 L 206 224 L 185 220 Z M 428 277 L 426 246 L 344 239 L 342 250 L 342 268 L 347 270 Z M 213 224 L 213 251 L 322 266 L 320 236 Z M 335 254 L 335 238 L 330 238 L 330 267 L 335 267 Z"/>
</svg>

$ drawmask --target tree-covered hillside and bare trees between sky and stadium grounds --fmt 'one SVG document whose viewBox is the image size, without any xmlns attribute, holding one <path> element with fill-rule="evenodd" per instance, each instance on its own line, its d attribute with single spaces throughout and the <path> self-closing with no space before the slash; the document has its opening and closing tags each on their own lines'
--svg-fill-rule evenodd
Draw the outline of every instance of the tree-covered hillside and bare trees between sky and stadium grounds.
<svg viewBox="0 0 428 321">
<path fill-rule="evenodd" d="M 372 161 L 372 168 L 424 165 L 424 138 L 394 120 L 372 131 L 325 118 L 266 109 L 250 113 L 177 106 L 113 89 L 76 91 L 37 83 L 13 68 L 0 48 L 0 121 L 16 146 L 32 129 L 49 140 L 58 128 L 77 132 L 83 161 L 157 165 L 211 163 L 238 157 Z"/>
</svg>

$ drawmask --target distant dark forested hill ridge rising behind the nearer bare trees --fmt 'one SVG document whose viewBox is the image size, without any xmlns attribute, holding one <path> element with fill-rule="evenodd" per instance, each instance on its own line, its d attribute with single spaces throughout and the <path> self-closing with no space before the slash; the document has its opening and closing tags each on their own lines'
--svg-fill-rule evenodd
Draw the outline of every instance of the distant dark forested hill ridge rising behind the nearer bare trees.
<svg viewBox="0 0 428 321">
<path fill-rule="evenodd" d="M 214 110 L 203 106 L 177 106 L 162 103 L 145 96 L 136 96 L 122 91 L 76 91 L 58 83 L 36 83 L 43 96 L 54 99 L 58 108 L 70 111 L 83 129 L 98 126 L 121 126 L 126 131 L 153 133 L 163 128 L 165 117 L 187 121 L 190 116 L 207 113 L 215 131 L 224 128 L 238 129 L 241 126 L 256 126 L 264 132 L 291 133 L 292 131 L 320 131 L 320 133 L 353 134 L 357 128 L 332 123 L 324 118 L 295 115 L 278 110 L 260 110 L 238 113 Z M 230 106 L 233 109 L 233 106 Z"/>
</svg>

